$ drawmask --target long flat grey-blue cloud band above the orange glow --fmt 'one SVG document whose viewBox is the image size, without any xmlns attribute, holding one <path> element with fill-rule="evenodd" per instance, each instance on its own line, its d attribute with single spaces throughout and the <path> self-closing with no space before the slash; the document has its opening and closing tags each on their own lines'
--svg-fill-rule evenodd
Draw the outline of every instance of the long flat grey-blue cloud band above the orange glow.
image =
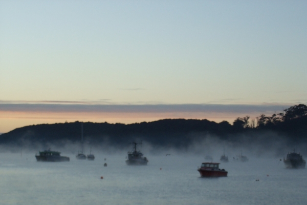
<svg viewBox="0 0 307 205">
<path fill-rule="evenodd" d="M 43 103 L 42 103 L 43 102 Z M 54 104 L 51 104 L 51 103 Z M 66 102 L 66 101 L 65 101 Z M 46 103 L 46 104 L 45 104 Z M 93 103 L 93 102 L 92 102 Z M 289 105 L 214 105 L 214 104 L 183 104 L 183 105 L 100 105 L 79 101 L 31 101 L 31 103 L 2 103 L 0 111 L 11 112 L 128 112 L 128 113 L 155 113 L 155 112 L 191 112 L 191 113 L 265 113 L 279 112 Z"/>
</svg>

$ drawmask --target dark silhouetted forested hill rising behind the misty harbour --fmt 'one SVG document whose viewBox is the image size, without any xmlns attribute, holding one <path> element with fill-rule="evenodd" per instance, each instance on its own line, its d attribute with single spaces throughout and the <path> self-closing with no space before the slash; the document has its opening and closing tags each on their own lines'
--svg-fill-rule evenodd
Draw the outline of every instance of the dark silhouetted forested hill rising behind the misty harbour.
<svg viewBox="0 0 307 205">
<path fill-rule="evenodd" d="M 155 146 L 182 148 L 207 136 L 239 143 L 238 136 L 254 138 L 263 133 L 275 133 L 286 137 L 290 143 L 307 141 L 307 107 L 297 105 L 272 116 L 260 115 L 257 121 L 249 116 L 238 117 L 233 125 L 223 121 L 216 123 L 206 119 L 162 119 L 136 124 L 108 124 L 71 122 L 26 126 L 0 135 L 0 144 L 23 146 L 32 144 L 57 144 L 81 141 L 81 123 L 84 140 L 90 144 L 108 143 L 124 146 L 128 142 L 144 140 Z M 270 137 L 270 135 L 266 135 Z M 255 139 L 254 139 L 255 140 Z"/>
</svg>

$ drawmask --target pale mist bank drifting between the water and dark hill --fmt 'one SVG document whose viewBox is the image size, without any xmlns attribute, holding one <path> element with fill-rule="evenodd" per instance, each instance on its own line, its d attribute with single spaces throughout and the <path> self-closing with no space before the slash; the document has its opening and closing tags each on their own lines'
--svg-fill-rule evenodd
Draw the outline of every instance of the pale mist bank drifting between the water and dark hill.
<svg viewBox="0 0 307 205">
<path fill-rule="evenodd" d="M 142 138 L 135 138 L 139 143 L 138 150 L 141 150 L 145 156 L 165 156 L 171 155 L 193 155 L 193 156 L 206 156 L 212 155 L 214 161 L 220 159 L 220 156 L 224 153 L 229 156 L 229 159 L 236 157 L 239 154 L 246 155 L 248 157 L 283 157 L 290 151 L 297 151 L 306 155 L 305 143 L 289 144 L 288 139 L 282 135 L 278 135 L 275 132 L 262 132 L 260 133 L 245 133 L 236 134 L 230 136 L 227 139 L 216 135 L 203 134 L 203 133 L 191 133 L 189 137 L 192 139 L 182 147 L 175 147 L 170 144 L 156 145 L 142 140 Z M 229 140 L 230 139 L 230 140 Z M 81 150 L 80 142 L 72 142 L 69 140 L 58 140 L 54 142 L 46 142 L 46 144 L 40 144 L 38 142 L 30 142 L 24 140 L 22 145 L 1 145 L 1 153 L 37 153 L 51 149 L 59 151 L 62 154 L 75 155 Z M 89 154 L 92 149 L 94 154 L 107 154 L 107 155 L 122 155 L 126 156 L 127 151 L 133 149 L 133 144 L 130 141 L 122 141 L 120 144 L 112 144 L 106 137 L 101 143 L 91 143 L 89 141 L 84 142 L 83 153 Z"/>
</svg>

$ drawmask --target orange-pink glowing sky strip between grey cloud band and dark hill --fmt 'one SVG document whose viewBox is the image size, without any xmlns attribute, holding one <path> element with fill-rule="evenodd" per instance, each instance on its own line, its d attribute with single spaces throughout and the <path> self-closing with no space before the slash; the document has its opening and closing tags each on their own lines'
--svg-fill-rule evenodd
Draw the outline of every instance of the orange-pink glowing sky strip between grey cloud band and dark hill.
<svg viewBox="0 0 307 205">
<path fill-rule="evenodd" d="M 259 113 L 247 113 L 255 118 Z M 0 133 L 6 133 L 16 128 L 38 125 L 91 121 L 108 122 L 110 124 L 123 123 L 133 124 L 139 122 L 150 122 L 160 119 L 208 119 L 210 121 L 228 121 L 230 124 L 237 117 L 244 117 L 242 113 L 222 112 L 13 112 L 0 111 Z"/>
</svg>

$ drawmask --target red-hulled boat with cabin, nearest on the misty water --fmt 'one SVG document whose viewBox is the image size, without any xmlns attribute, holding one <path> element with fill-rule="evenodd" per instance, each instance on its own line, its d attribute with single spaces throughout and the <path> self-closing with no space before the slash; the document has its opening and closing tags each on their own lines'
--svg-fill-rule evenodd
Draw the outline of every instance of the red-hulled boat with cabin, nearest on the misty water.
<svg viewBox="0 0 307 205">
<path fill-rule="evenodd" d="M 198 169 L 202 177 L 220 177 L 227 176 L 227 171 L 218 169 L 220 163 L 204 162 L 202 167 Z"/>
</svg>

